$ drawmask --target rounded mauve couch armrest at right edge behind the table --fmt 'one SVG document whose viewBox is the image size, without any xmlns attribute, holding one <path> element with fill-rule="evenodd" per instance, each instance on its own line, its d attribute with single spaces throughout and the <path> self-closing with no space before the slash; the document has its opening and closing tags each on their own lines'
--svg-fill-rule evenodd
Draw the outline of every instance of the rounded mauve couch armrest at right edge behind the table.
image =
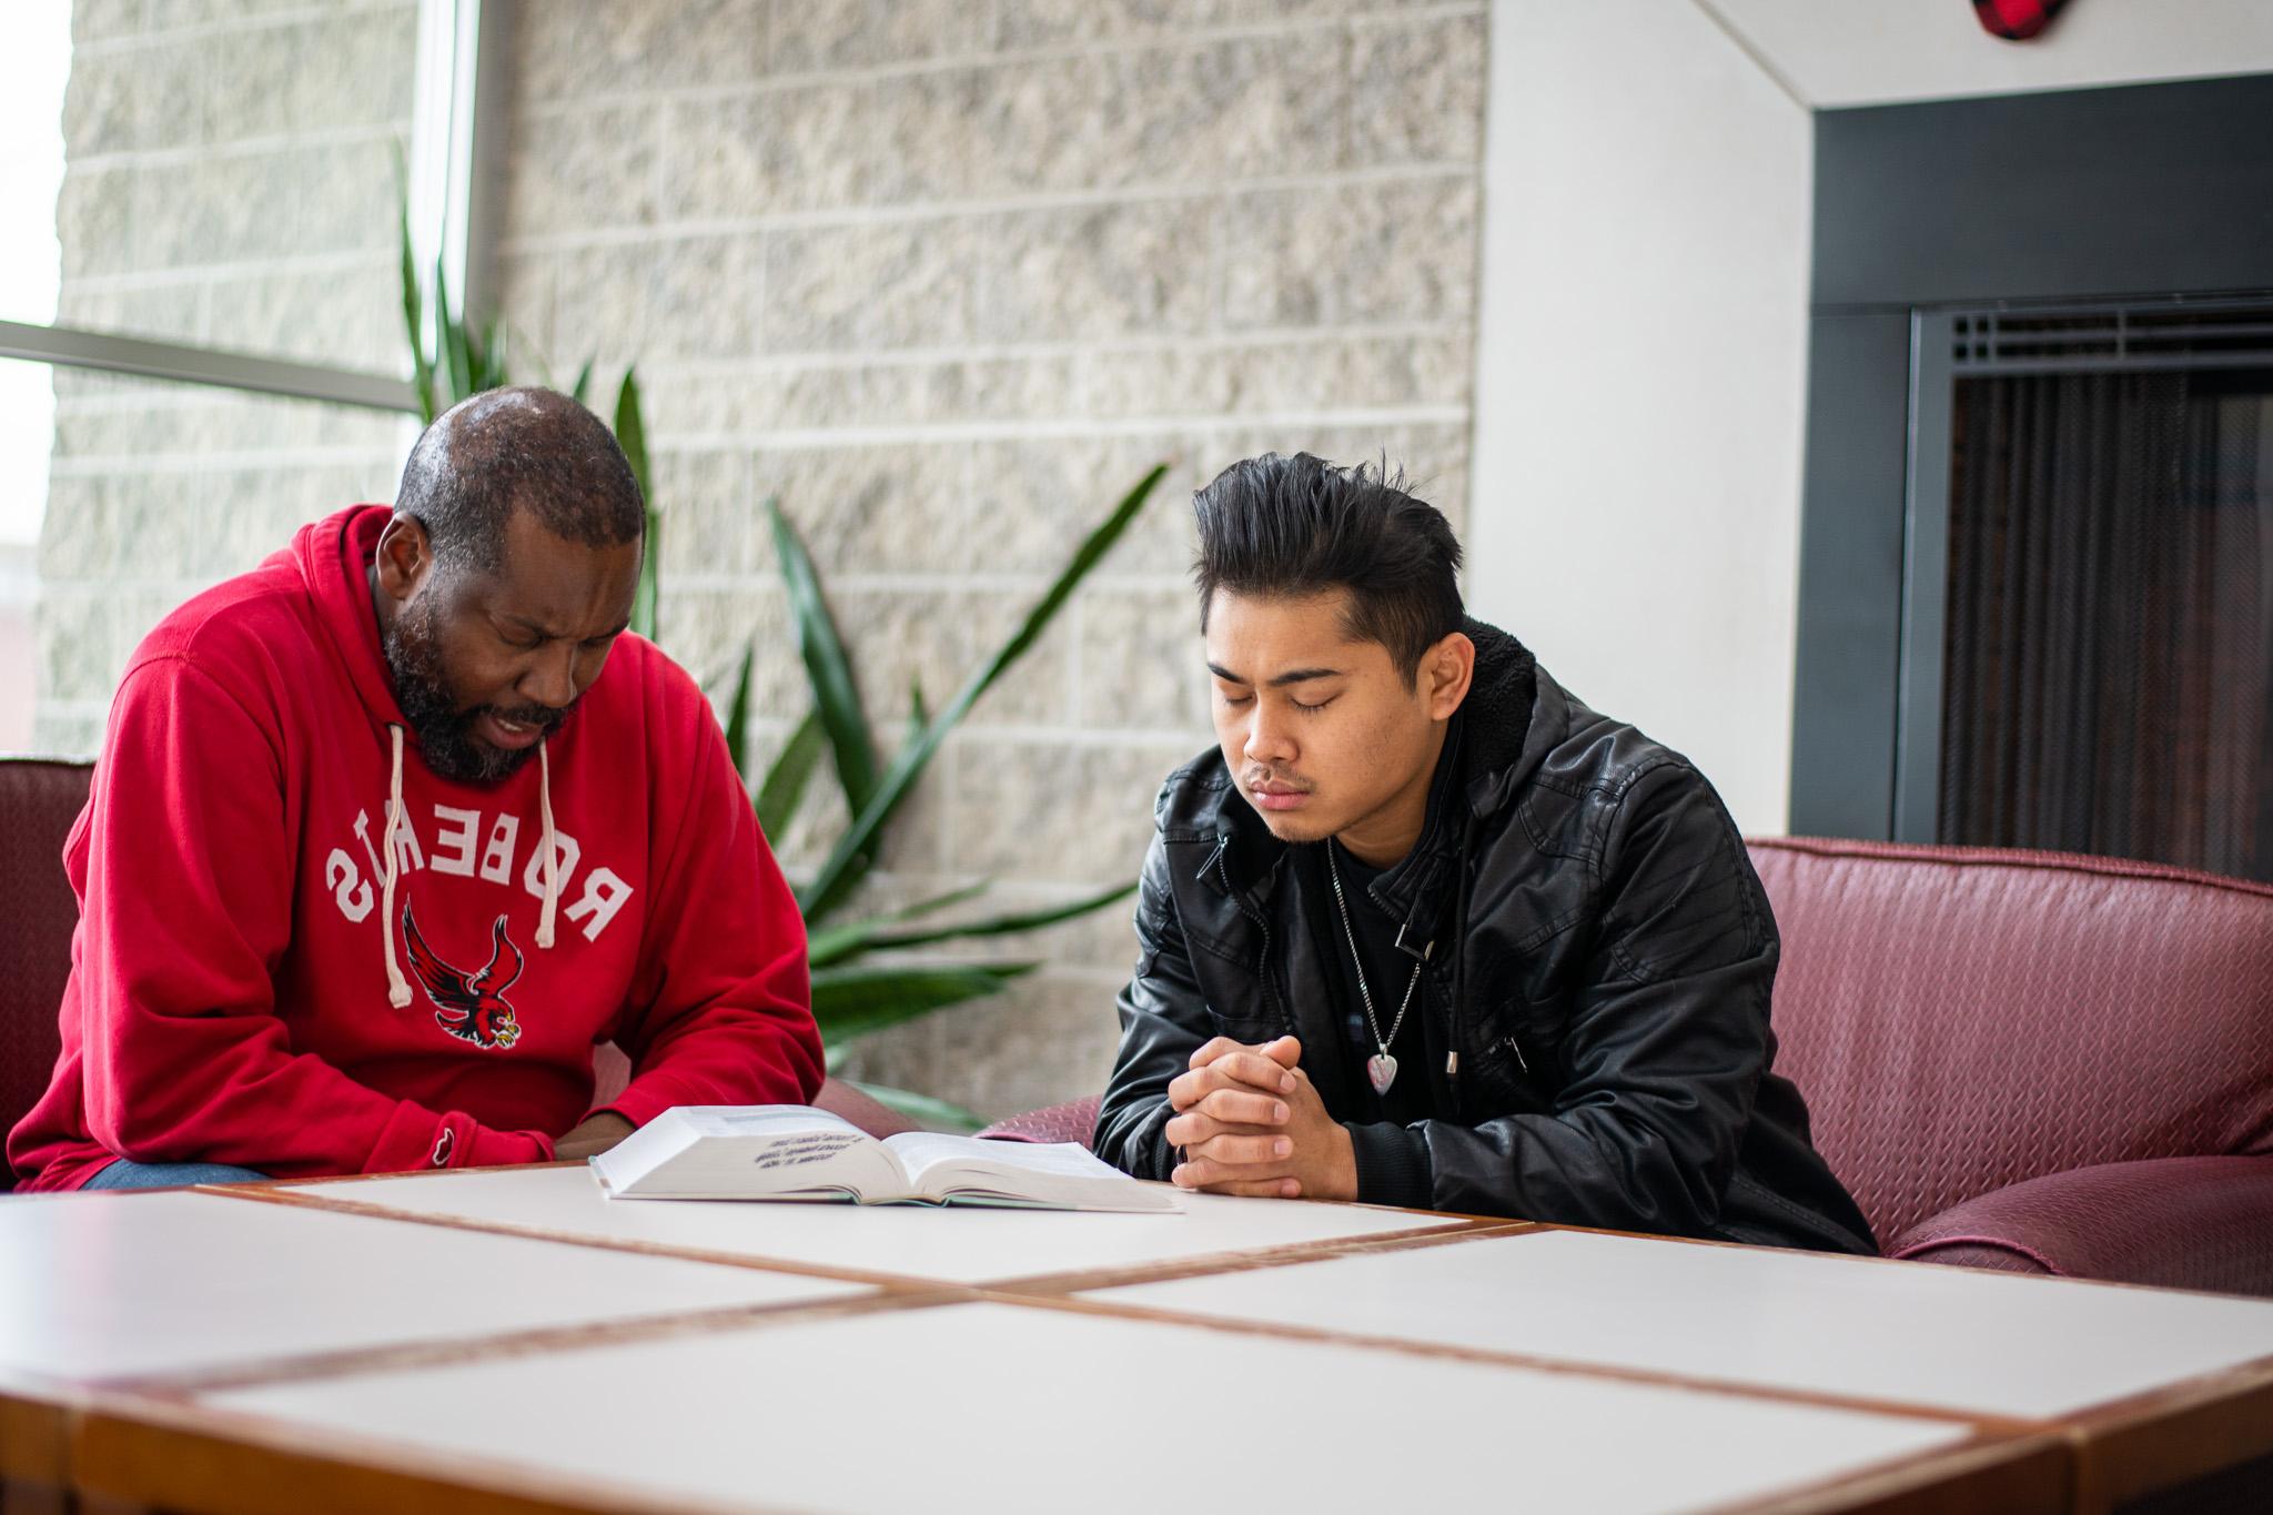
<svg viewBox="0 0 2273 1515">
<path fill-rule="evenodd" d="M 1950 1206 L 1887 1256 L 2273 1295 L 2273 1156 L 2071 1167 Z"/>
</svg>

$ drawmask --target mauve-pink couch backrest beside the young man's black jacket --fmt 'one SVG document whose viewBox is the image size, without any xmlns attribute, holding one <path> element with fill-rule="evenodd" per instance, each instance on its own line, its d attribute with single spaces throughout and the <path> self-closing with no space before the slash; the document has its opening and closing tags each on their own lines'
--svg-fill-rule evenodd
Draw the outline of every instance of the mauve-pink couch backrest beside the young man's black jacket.
<svg viewBox="0 0 2273 1515">
<path fill-rule="evenodd" d="M 1882 1238 L 2091 1163 L 2273 1152 L 2273 888 L 1773 838 L 1777 1072 Z"/>
</svg>

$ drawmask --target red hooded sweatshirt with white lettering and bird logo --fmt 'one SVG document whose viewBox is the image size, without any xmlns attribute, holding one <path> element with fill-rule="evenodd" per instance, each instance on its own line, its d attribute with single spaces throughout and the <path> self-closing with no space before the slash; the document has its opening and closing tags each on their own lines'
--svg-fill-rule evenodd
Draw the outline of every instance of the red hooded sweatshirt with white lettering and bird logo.
<svg viewBox="0 0 2273 1515">
<path fill-rule="evenodd" d="M 805 924 L 693 679 L 625 634 L 541 761 L 436 777 L 370 609 L 386 518 L 302 527 L 127 663 L 64 847 L 80 929 L 55 1083 L 7 1145 L 23 1188 L 114 1156 L 546 1161 L 600 1040 L 632 1124 L 821 1088 Z"/>
</svg>

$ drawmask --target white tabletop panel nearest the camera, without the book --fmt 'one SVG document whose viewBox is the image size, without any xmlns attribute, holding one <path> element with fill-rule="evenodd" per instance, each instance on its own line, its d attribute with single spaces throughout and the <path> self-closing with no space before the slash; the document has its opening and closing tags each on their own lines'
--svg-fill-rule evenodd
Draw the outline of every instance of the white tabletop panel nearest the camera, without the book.
<svg viewBox="0 0 2273 1515">
<path fill-rule="evenodd" d="M 559 1379 L 600 1392 L 546 1395 Z M 1541 1510 L 1662 1510 L 1668 1495 L 1737 1504 L 1968 1440 L 1964 1426 L 1893 1415 L 1009 1304 L 250 1388 L 214 1404 L 302 1442 L 377 1436 L 466 1458 L 496 1488 L 543 1467 L 625 1504 L 664 1492 L 877 1513 L 1427 1510 L 1491 1488 Z M 1641 1426 L 1655 1426 L 1650 1458 L 1632 1456 Z"/>
</svg>

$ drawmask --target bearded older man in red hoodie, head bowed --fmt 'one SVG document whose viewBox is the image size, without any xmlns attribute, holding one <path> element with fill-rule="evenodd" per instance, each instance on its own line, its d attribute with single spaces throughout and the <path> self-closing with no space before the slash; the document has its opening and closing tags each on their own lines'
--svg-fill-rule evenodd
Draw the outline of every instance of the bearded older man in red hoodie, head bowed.
<svg viewBox="0 0 2273 1515">
<path fill-rule="evenodd" d="M 396 507 L 302 527 L 136 647 L 25 1188 L 534 1163 L 821 1088 L 805 927 L 709 704 L 627 634 L 639 484 L 477 395 Z M 593 1045 L 632 1081 L 593 1102 Z"/>
</svg>

